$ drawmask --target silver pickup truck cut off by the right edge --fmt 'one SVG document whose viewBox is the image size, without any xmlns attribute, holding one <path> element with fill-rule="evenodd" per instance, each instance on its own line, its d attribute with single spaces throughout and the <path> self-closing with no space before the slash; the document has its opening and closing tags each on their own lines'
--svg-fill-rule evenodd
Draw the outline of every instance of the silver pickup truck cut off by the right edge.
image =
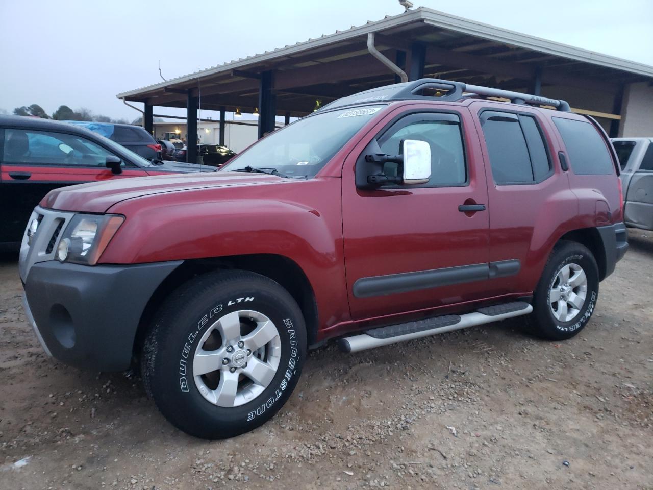
<svg viewBox="0 0 653 490">
<path fill-rule="evenodd" d="M 653 138 L 613 138 L 621 164 L 626 226 L 653 230 Z"/>
</svg>

